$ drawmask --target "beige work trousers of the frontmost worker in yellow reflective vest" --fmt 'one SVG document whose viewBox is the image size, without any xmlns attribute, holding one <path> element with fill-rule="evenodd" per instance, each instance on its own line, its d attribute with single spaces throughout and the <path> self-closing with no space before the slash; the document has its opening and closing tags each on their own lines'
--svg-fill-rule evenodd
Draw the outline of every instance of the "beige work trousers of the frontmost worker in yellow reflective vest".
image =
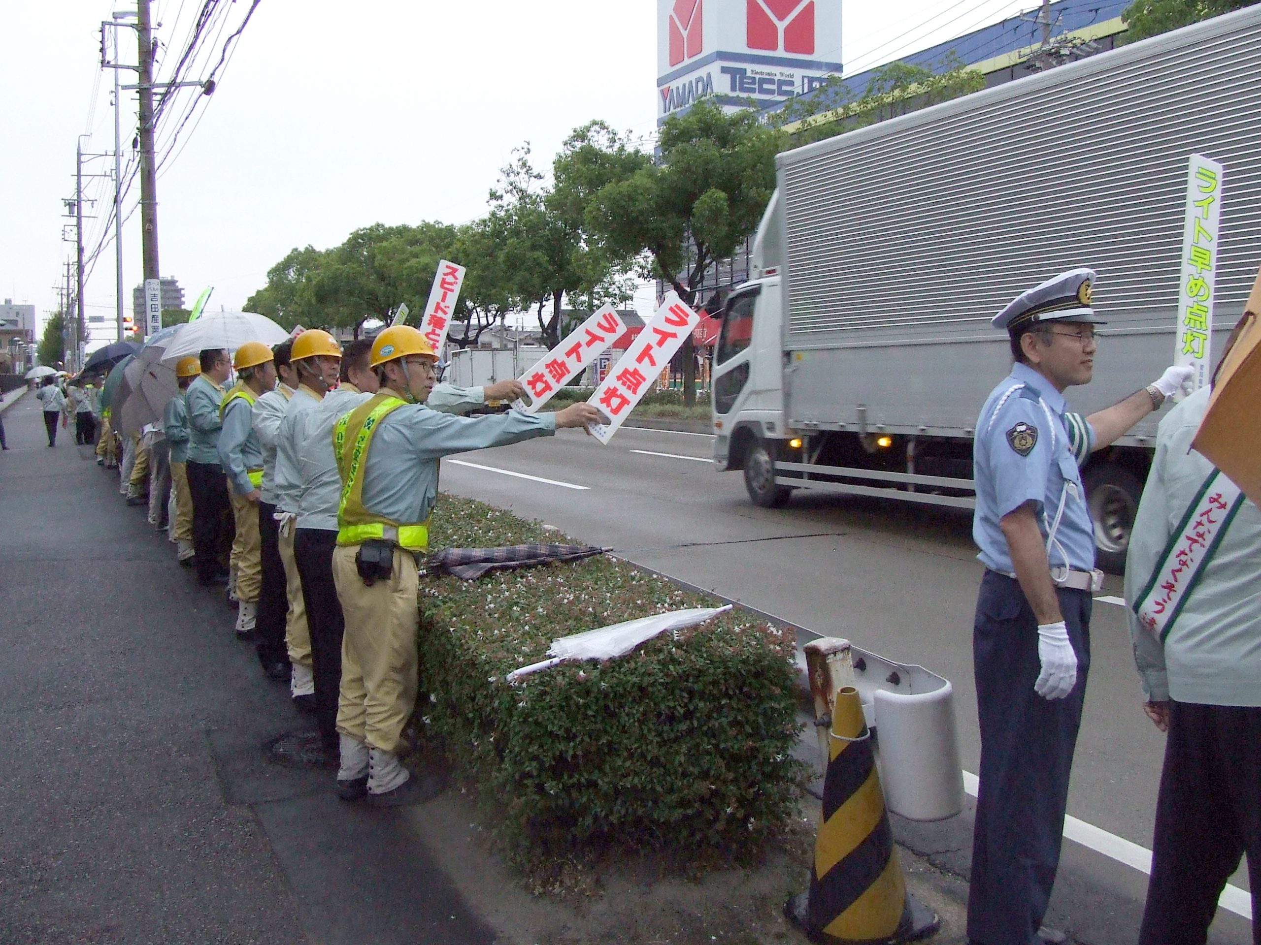
<svg viewBox="0 0 1261 945">
<path fill-rule="evenodd" d="M 416 707 L 416 558 L 395 548 L 393 573 L 368 587 L 354 566 L 358 551 L 340 546 L 333 551 L 333 583 L 346 620 L 337 731 L 397 753 Z"/>
</svg>

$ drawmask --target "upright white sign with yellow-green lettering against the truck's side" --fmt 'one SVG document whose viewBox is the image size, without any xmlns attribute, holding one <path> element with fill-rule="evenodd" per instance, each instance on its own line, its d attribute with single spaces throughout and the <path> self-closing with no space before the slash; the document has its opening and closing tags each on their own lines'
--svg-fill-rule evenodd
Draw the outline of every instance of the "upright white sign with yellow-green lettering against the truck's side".
<svg viewBox="0 0 1261 945">
<path fill-rule="evenodd" d="M 1190 387 L 1211 379 L 1209 341 L 1213 335 L 1213 292 L 1217 273 L 1217 236 L 1222 218 L 1222 165 L 1202 154 L 1190 156 L 1187 173 L 1187 227 L 1183 232 L 1182 278 L 1178 282 L 1178 331 L 1174 364 L 1189 364 Z M 1175 399 L 1182 399 L 1177 394 Z"/>
</svg>

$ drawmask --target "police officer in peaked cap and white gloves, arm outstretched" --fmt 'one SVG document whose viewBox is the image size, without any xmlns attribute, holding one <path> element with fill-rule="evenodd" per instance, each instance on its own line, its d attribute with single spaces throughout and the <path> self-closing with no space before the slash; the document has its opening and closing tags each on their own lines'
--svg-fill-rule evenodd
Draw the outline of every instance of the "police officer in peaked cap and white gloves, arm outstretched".
<svg viewBox="0 0 1261 945">
<path fill-rule="evenodd" d="M 1064 391 L 1090 383 L 1095 273 L 1030 289 L 994 318 L 1015 365 L 981 408 L 972 534 L 985 576 L 972 653 L 981 788 L 967 934 L 975 945 L 1062 941 L 1042 927 L 1055 879 L 1068 775 L 1090 668 L 1095 530 L 1078 464 L 1158 408 L 1190 377 L 1159 381 L 1087 418 Z"/>
</svg>

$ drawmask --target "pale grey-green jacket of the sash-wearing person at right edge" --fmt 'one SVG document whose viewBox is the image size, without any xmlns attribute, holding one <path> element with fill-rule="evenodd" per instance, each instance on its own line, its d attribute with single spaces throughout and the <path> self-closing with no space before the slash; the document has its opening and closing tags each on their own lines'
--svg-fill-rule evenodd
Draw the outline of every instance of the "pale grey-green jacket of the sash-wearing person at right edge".
<svg viewBox="0 0 1261 945">
<path fill-rule="evenodd" d="M 1150 701 L 1261 706 L 1261 510 L 1251 500 L 1243 499 L 1163 645 L 1132 610 L 1213 471 L 1213 464 L 1190 449 L 1211 396 L 1203 387 L 1160 421 L 1156 456 L 1130 533 L 1126 616 Z"/>
</svg>

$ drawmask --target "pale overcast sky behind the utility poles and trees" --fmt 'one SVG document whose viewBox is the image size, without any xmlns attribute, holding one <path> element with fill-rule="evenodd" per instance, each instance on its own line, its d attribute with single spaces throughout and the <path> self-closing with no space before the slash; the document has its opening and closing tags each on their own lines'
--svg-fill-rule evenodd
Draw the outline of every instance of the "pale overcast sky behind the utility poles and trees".
<svg viewBox="0 0 1261 945">
<path fill-rule="evenodd" d="M 159 77 L 187 42 L 200 0 L 154 0 Z M 846 72 L 904 55 L 1031 8 L 1037 0 L 851 0 L 845 6 Z M 73 244 L 62 242 L 62 198 L 73 194 L 76 136 L 87 152 L 113 147 L 112 74 L 98 68 L 100 23 L 129 0 L 10 4 L 0 32 L 3 141 L 0 296 L 57 305 Z M 218 58 L 248 0 L 207 44 Z M 923 24 L 923 25 L 919 25 Z M 125 33 L 125 62 L 136 60 Z M 213 54 L 213 55 L 212 55 Z M 327 248 L 357 227 L 424 219 L 462 223 L 511 150 L 530 141 L 540 166 L 571 129 L 604 118 L 649 135 L 656 126 L 656 4 L 649 0 L 430 3 L 262 0 L 214 94 L 203 100 L 158 180 L 161 272 L 187 304 L 208 285 L 211 307 L 240 309 L 266 271 L 295 246 Z M 208 72 L 209 63 L 194 77 Z M 122 82 L 135 82 L 122 72 Z M 159 152 L 192 105 L 185 91 L 159 126 Z M 197 116 L 200 115 L 200 118 Z M 124 92 L 124 155 L 135 129 Z M 112 159 L 84 170 L 103 174 Z M 97 219 L 112 184 L 88 178 Z M 136 188 L 130 203 L 139 194 Z M 69 234 L 69 231 L 67 231 Z M 91 271 L 90 315 L 112 319 L 113 249 Z M 124 291 L 140 281 L 139 214 L 124 229 Z M 95 346 L 106 334 L 97 329 Z"/>
</svg>

